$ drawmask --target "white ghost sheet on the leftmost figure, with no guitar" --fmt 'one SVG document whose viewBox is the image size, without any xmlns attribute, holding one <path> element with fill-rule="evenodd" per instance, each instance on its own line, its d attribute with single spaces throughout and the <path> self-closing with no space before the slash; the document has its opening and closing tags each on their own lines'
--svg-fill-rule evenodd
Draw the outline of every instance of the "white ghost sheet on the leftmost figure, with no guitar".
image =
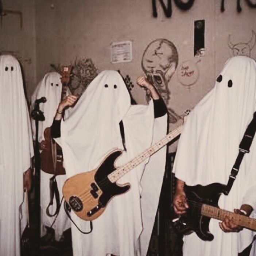
<svg viewBox="0 0 256 256">
<path fill-rule="evenodd" d="M 23 173 L 34 155 L 19 62 L 0 56 L 0 255 L 19 256 L 27 224 Z"/>
</svg>

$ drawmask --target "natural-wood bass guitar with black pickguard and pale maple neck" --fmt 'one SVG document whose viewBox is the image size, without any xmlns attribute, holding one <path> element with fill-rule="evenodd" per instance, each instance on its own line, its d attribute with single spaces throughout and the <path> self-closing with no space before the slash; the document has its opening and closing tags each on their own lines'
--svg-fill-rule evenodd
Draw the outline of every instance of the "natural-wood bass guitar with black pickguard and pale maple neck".
<svg viewBox="0 0 256 256">
<path fill-rule="evenodd" d="M 162 140 L 118 168 L 115 167 L 115 161 L 122 151 L 111 151 L 95 170 L 74 175 L 66 180 L 62 187 L 65 201 L 81 219 L 96 219 L 104 212 L 110 199 L 129 190 L 129 183 L 120 186 L 116 181 L 180 135 L 182 128 L 183 125 L 180 125 Z"/>
</svg>

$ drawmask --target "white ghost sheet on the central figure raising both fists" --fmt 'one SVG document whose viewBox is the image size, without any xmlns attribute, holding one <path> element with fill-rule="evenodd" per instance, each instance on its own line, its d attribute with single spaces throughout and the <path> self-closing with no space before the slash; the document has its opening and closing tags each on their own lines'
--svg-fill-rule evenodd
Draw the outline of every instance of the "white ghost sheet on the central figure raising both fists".
<svg viewBox="0 0 256 256">
<path fill-rule="evenodd" d="M 146 106 L 131 105 L 130 101 L 128 90 L 118 72 L 106 70 L 94 78 L 71 110 L 68 119 L 61 124 L 60 139 L 68 178 L 93 170 L 107 152 L 115 148 L 123 150 L 119 127 L 121 120 L 127 151 L 116 161 L 117 166 L 127 163 L 151 146 L 155 123 L 153 102 Z M 166 131 L 166 116 L 162 121 L 160 129 Z M 158 134 L 157 129 L 154 133 Z M 165 155 L 166 151 L 163 150 L 162 154 Z M 143 188 L 140 181 L 142 176 L 147 175 L 146 172 L 143 174 L 147 161 L 119 179 L 118 183 L 129 182 L 131 188 L 127 193 L 110 200 L 104 213 L 93 220 L 92 233 L 82 234 L 72 225 L 75 256 L 105 256 L 107 253 L 141 255 L 139 236 L 147 220 L 141 220 L 140 195 Z M 155 170 L 155 177 L 158 171 Z M 163 172 L 160 173 L 163 176 Z M 152 198 L 154 200 L 158 198 Z M 155 213 L 156 209 L 151 212 L 154 217 L 150 217 L 155 218 Z M 88 221 L 79 219 L 75 214 L 72 214 L 72 218 L 82 230 L 90 229 Z M 148 239 L 148 234 L 145 237 Z"/>
</svg>

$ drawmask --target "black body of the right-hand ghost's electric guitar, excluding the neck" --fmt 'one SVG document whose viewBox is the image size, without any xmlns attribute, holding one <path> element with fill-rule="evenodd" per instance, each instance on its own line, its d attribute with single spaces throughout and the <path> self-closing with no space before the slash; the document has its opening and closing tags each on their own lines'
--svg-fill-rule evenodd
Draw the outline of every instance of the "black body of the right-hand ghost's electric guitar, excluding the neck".
<svg viewBox="0 0 256 256">
<path fill-rule="evenodd" d="M 212 241 L 213 234 L 209 232 L 210 218 L 201 215 L 202 204 L 218 207 L 218 200 L 225 186 L 212 183 L 207 186 L 185 186 L 189 209 L 186 214 L 173 222 L 178 233 L 189 234 L 195 232 L 204 241 Z"/>
</svg>

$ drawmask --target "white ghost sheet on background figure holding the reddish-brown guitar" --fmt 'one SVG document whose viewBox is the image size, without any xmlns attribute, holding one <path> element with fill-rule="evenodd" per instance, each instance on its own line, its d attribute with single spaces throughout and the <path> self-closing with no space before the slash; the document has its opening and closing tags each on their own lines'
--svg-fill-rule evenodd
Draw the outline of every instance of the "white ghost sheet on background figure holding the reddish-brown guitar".
<svg viewBox="0 0 256 256">
<path fill-rule="evenodd" d="M 39 82 L 31 97 L 31 110 L 34 108 L 35 100 L 41 97 L 46 97 L 46 102 L 40 103 L 39 108 L 43 112 L 45 120 L 39 121 L 38 123 L 38 141 L 44 140 L 44 130 L 50 127 L 53 123 L 56 110 L 58 108 L 59 102 L 61 101 L 62 93 L 62 83 L 60 80 L 61 75 L 57 72 L 50 72 L 44 75 L 43 79 Z M 68 110 L 65 111 L 65 117 L 68 115 Z M 35 120 L 32 119 L 32 131 L 35 140 Z M 46 228 L 53 224 L 55 219 L 46 214 L 47 206 L 50 202 L 50 178 L 53 177 L 52 174 L 47 174 L 41 170 L 40 173 L 40 205 L 41 205 L 41 236 L 46 234 Z M 57 175 L 56 181 L 58 184 L 59 197 L 62 198 L 62 186 L 66 180 L 66 175 Z M 53 200 L 53 206 L 50 207 L 49 212 L 53 214 L 56 210 L 56 201 Z M 63 204 L 58 213 L 58 217 L 54 222 L 52 228 L 55 230 L 55 239 L 58 241 L 63 231 L 71 227 L 69 218 L 67 217 Z"/>
</svg>

